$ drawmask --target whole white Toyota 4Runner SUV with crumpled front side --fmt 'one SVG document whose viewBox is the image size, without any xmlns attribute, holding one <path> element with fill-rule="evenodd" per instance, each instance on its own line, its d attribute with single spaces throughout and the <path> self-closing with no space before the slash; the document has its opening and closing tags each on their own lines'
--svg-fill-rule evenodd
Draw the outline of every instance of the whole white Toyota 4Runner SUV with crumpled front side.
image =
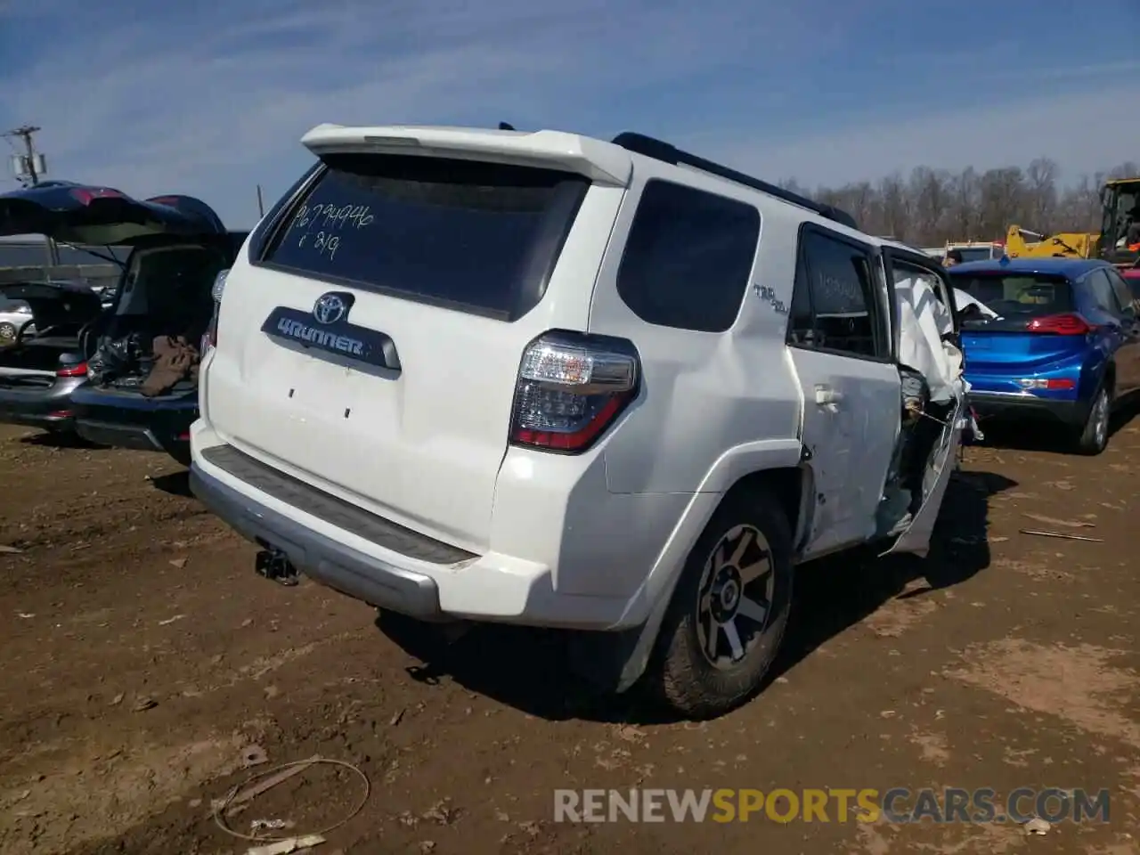
<svg viewBox="0 0 1140 855">
<path fill-rule="evenodd" d="M 925 554 L 966 422 L 936 261 L 635 133 L 302 141 L 192 430 L 267 575 L 578 630 L 586 676 L 708 717 L 760 686 L 797 563 Z"/>
</svg>

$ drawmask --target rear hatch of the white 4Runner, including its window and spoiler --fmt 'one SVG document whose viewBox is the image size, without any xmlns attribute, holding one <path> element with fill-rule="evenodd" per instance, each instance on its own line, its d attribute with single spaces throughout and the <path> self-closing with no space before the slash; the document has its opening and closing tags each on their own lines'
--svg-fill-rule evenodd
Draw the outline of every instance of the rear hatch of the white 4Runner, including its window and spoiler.
<svg viewBox="0 0 1140 855">
<path fill-rule="evenodd" d="M 229 272 L 206 416 L 282 471 L 483 551 L 523 351 L 586 328 L 628 154 L 547 131 L 304 141 L 323 164 Z"/>
</svg>

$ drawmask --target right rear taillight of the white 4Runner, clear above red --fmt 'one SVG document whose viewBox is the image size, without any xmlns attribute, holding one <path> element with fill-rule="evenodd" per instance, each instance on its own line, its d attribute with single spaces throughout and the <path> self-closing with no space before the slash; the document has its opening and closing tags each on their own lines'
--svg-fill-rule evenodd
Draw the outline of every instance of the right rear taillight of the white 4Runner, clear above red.
<svg viewBox="0 0 1140 855">
<path fill-rule="evenodd" d="M 563 454 L 589 448 L 637 394 L 638 359 L 622 339 L 547 333 L 522 355 L 511 443 Z"/>
</svg>

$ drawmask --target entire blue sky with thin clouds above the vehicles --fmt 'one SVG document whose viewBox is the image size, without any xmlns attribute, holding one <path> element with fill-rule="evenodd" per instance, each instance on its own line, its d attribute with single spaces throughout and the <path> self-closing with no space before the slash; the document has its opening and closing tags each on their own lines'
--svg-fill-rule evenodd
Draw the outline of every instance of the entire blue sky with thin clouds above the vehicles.
<svg viewBox="0 0 1140 855">
<path fill-rule="evenodd" d="M 1138 31 L 1140 0 L 0 0 L 0 129 L 41 125 L 52 178 L 235 228 L 320 122 L 638 130 L 808 186 L 1075 177 L 1140 160 Z"/>
</svg>

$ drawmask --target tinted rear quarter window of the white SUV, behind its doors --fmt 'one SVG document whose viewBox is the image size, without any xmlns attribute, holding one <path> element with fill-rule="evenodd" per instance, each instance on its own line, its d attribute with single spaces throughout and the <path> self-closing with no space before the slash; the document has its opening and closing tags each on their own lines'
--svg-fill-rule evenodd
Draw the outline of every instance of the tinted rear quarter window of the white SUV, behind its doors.
<svg viewBox="0 0 1140 855">
<path fill-rule="evenodd" d="M 743 202 L 653 179 L 618 267 L 618 295 L 649 324 L 723 333 L 736 320 L 760 237 Z"/>
</svg>

